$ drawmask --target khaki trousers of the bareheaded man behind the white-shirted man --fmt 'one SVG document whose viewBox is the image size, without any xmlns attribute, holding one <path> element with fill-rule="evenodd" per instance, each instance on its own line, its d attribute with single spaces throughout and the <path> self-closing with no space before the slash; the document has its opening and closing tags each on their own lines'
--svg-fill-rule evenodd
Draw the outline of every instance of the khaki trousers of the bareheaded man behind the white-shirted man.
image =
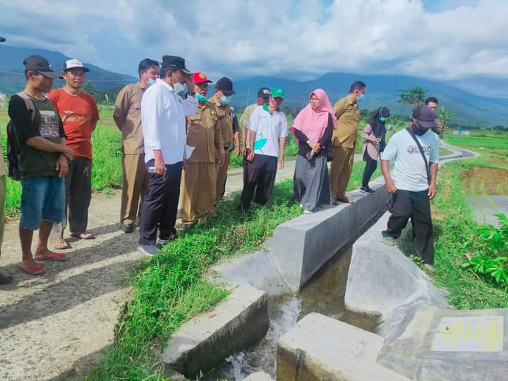
<svg viewBox="0 0 508 381">
<path fill-rule="evenodd" d="M 135 223 L 147 192 L 148 173 L 145 166 L 145 154 L 123 154 L 120 208 L 120 222 L 122 224 Z"/>
</svg>

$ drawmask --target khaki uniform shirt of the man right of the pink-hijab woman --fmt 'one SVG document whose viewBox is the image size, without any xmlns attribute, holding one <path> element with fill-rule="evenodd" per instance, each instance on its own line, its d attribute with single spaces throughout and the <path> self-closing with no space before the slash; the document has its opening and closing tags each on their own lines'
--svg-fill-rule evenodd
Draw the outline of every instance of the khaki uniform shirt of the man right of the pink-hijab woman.
<svg viewBox="0 0 508 381">
<path fill-rule="evenodd" d="M 333 111 L 337 116 L 337 129 L 332 135 L 332 144 L 335 147 L 341 145 L 344 148 L 354 148 L 356 145 L 360 109 L 358 109 L 358 103 L 355 100 L 353 95 L 346 95 L 334 104 Z"/>
</svg>

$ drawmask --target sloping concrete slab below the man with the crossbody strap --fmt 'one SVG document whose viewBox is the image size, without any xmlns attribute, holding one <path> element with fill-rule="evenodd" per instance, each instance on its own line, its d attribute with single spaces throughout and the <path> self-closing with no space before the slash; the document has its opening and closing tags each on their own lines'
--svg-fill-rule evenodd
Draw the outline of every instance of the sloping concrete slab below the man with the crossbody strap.
<svg viewBox="0 0 508 381">
<path fill-rule="evenodd" d="M 414 303 L 447 308 L 443 291 L 433 286 L 428 276 L 396 246 L 382 243 L 381 231 L 388 218 L 386 213 L 353 244 L 344 297 L 346 307 L 385 317 Z"/>
</svg>

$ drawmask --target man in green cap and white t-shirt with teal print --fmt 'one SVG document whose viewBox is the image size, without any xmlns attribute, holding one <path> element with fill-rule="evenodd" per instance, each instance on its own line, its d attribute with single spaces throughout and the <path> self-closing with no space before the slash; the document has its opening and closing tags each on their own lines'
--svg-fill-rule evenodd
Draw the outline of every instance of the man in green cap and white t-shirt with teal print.
<svg viewBox="0 0 508 381">
<path fill-rule="evenodd" d="M 255 193 L 254 202 L 265 205 L 272 195 L 279 168 L 284 168 L 284 145 L 287 135 L 286 114 L 280 106 L 284 102 L 284 90 L 273 87 L 270 102 L 253 111 L 247 124 L 248 152 L 243 170 L 241 205 L 247 210 Z"/>
</svg>

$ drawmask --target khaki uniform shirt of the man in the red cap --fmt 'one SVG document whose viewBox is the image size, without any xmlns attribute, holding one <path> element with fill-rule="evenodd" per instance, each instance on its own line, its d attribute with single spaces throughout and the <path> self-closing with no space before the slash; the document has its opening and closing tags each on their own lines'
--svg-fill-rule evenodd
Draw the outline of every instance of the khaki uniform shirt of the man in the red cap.
<svg viewBox="0 0 508 381">
<path fill-rule="evenodd" d="M 187 118 L 187 145 L 195 147 L 189 163 L 214 163 L 215 152 L 224 153 L 219 116 L 213 103 L 198 103 L 198 114 Z"/>
</svg>

